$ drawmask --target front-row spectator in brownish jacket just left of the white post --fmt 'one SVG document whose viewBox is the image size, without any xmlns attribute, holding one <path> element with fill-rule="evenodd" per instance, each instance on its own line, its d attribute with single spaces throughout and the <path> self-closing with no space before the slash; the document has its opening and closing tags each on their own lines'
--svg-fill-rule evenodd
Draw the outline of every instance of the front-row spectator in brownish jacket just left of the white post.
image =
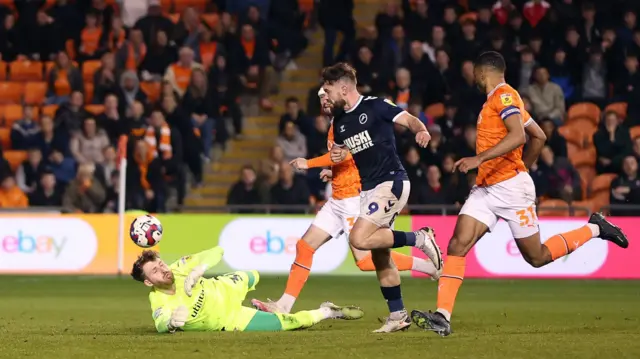
<svg viewBox="0 0 640 359">
<path fill-rule="evenodd" d="M 106 199 L 104 187 L 95 176 L 95 166 L 91 163 L 78 167 L 76 178 L 64 191 L 62 207 L 72 213 L 99 213 Z"/>
</svg>

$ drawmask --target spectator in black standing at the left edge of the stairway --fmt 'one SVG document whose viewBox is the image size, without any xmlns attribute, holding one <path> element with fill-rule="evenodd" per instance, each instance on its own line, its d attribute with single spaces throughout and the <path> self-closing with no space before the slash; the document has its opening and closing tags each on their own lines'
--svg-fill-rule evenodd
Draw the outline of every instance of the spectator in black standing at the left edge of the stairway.
<svg viewBox="0 0 640 359">
<path fill-rule="evenodd" d="M 231 117 L 234 137 L 242 139 L 243 114 L 238 98 L 242 85 L 237 74 L 227 68 L 227 58 L 217 56 L 215 64 L 209 70 L 209 88 L 213 91 L 215 106 L 223 117 Z M 216 124 L 215 142 L 224 147 L 229 138 L 226 121 L 218 121 Z"/>
</svg>

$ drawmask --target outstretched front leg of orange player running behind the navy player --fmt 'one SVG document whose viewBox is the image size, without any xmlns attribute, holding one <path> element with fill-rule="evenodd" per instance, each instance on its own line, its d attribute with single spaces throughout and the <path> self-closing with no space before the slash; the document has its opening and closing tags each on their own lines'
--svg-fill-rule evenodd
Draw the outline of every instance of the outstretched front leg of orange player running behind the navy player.
<svg viewBox="0 0 640 359">
<path fill-rule="evenodd" d="M 311 271 L 313 255 L 324 243 L 342 231 L 342 222 L 336 215 L 333 198 L 320 209 L 302 239 L 296 243 L 296 258 L 291 264 L 284 293 L 275 302 L 253 299 L 251 304 L 265 312 L 289 313 L 300 295 Z"/>
</svg>

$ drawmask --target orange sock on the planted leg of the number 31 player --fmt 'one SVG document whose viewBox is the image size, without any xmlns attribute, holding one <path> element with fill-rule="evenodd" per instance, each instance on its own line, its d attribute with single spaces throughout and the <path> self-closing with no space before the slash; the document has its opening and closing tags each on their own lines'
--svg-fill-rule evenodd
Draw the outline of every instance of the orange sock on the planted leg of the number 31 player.
<svg viewBox="0 0 640 359">
<path fill-rule="evenodd" d="M 464 278 L 465 257 L 447 256 L 438 281 L 438 312 L 451 320 L 453 305 Z"/>
</svg>

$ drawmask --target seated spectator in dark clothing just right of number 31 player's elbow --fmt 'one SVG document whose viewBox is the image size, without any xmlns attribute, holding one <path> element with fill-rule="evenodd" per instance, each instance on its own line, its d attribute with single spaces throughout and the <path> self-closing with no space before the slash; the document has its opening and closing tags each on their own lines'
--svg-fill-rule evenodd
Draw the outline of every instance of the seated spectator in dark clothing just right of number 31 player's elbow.
<svg viewBox="0 0 640 359">
<path fill-rule="evenodd" d="M 540 153 L 540 170 L 549 185 L 546 195 L 568 203 L 582 199 L 580 174 L 564 157 L 555 157 L 551 147 L 545 146 Z"/>
</svg>

